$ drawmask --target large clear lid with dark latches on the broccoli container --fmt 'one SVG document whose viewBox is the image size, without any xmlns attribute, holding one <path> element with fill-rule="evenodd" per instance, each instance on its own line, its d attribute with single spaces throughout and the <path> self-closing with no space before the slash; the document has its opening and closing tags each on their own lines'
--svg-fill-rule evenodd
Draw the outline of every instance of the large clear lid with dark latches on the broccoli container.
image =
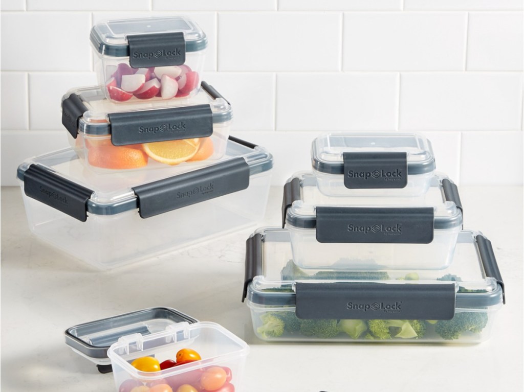
<svg viewBox="0 0 524 392">
<path fill-rule="evenodd" d="M 296 307 L 299 318 L 331 319 L 447 320 L 458 308 L 505 302 L 492 244 L 470 230 L 459 233 L 445 270 L 321 271 L 293 263 L 286 229 L 262 228 L 246 241 L 246 298 L 253 307 Z M 348 301 L 369 307 L 349 309 Z M 380 305 L 391 301 L 401 304 L 384 311 Z"/>
</svg>

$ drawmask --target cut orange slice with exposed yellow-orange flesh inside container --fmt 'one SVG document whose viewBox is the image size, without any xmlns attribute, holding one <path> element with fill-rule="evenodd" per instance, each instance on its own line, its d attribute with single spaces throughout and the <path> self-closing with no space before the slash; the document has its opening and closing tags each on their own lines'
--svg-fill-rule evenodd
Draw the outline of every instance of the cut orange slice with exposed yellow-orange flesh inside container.
<svg viewBox="0 0 524 392">
<path fill-rule="evenodd" d="M 143 144 L 144 151 L 149 158 L 168 165 L 178 165 L 193 158 L 199 146 L 200 142 L 194 143 L 186 139 Z"/>
</svg>

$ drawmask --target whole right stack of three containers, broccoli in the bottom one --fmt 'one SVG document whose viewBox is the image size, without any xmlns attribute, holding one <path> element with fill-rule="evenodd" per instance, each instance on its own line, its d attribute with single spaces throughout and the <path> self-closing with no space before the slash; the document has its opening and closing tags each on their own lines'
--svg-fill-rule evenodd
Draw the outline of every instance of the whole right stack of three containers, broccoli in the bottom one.
<svg viewBox="0 0 524 392">
<path fill-rule="evenodd" d="M 243 300 L 264 340 L 474 343 L 504 283 L 489 240 L 463 230 L 430 142 L 325 135 L 284 187 L 282 228 L 247 240 Z"/>
</svg>

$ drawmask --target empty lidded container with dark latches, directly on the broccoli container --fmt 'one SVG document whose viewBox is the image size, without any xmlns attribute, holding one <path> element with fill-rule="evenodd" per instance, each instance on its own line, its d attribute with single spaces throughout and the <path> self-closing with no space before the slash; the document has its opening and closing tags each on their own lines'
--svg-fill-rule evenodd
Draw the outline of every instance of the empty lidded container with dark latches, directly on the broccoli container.
<svg viewBox="0 0 524 392">
<path fill-rule="evenodd" d="M 284 187 L 282 226 L 302 268 L 447 267 L 462 228 L 456 185 L 435 175 L 419 197 L 334 197 L 311 173 Z"/>
</svg>

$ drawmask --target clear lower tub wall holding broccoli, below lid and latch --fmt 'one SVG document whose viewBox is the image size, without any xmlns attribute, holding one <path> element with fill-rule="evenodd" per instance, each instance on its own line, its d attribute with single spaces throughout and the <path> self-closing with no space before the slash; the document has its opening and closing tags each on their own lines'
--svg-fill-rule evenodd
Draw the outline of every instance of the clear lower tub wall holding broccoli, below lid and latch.
<svg viewBox="0 0 524 392">
<path fill-rule="evenodd" d="M 372 343 L 471 344 L 492 334 L 497 310 L 456 309 L 452 320 L 301 320 L 294 307 L 261 307 L 248 303 L 256 336 L 266 341 L 321 341 Z M 283 333 L 275 336 L 269 326 L 282 320 Z M 277 321 L 279 322 L 279 321 Z"/>
</svg>

